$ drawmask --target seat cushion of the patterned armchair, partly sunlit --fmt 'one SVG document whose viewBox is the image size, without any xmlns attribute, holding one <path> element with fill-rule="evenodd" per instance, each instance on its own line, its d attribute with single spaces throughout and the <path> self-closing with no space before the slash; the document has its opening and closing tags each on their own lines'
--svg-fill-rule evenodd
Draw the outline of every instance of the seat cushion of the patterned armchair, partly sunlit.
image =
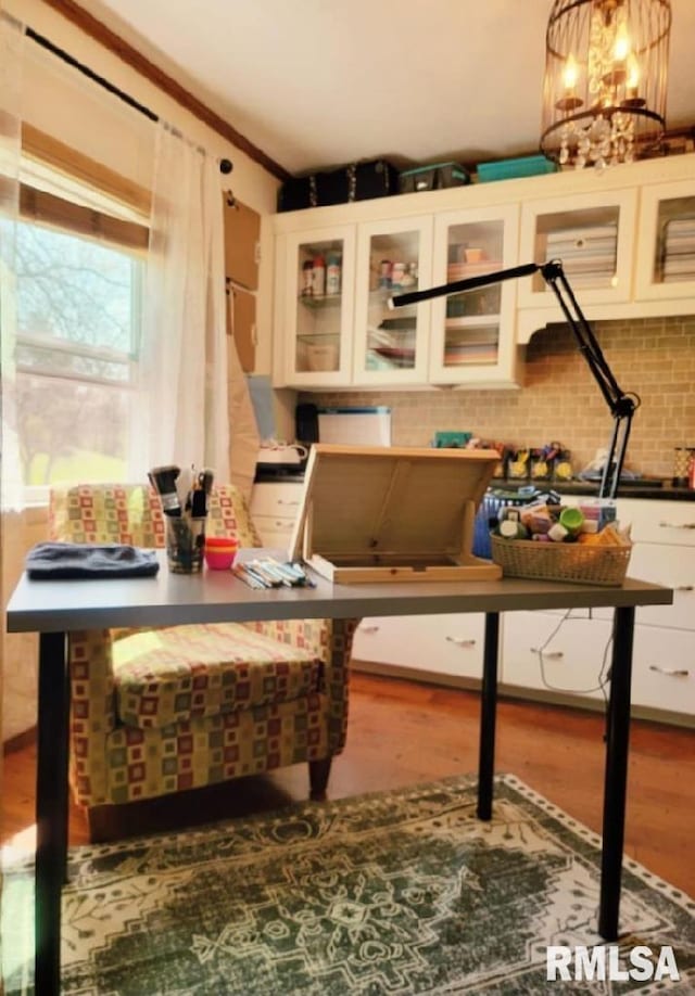
<svg viewBox="0 0 695 996">
<path fill-rule="evenodd" d="M 113 647 L 118 718 L 161 728 L 318 690 L 320 661 L 239 623 L 143 630 Z"/>
</svg>

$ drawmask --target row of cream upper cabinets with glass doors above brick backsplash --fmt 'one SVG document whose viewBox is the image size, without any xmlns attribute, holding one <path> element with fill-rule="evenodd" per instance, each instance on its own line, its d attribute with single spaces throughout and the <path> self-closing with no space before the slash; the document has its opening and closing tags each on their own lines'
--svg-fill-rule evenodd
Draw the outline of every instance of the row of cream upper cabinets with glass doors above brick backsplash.
<svg viewBox="0 0 695 996">
<path fill-rule="evenodd" d="M 518 386 L 520 347 L 564 321 L 542 273 L 391 299 L 559 259 L 591 320 L 695 309 L 695 155 L 279 214 L 277 386 Z"/>
</svg>

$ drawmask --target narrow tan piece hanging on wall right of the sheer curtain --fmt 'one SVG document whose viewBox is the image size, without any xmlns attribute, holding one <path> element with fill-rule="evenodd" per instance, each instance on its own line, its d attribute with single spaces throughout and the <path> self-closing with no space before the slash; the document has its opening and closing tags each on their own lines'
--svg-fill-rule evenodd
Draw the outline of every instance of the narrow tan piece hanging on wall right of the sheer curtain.
<svg viewBox="0 0 695 996">
<path fill-rule="evenodd" d="M 227 308 L 231 311 L 231 295 Z M 233 321 L 232 315 L 228 320 Z M 235 336 L 227 336 L 227 374 L 229 381 L 229 481 L 251 501 L 261 438 L 256 425 L 247 378 L 241 369 Z"/>
</svg>

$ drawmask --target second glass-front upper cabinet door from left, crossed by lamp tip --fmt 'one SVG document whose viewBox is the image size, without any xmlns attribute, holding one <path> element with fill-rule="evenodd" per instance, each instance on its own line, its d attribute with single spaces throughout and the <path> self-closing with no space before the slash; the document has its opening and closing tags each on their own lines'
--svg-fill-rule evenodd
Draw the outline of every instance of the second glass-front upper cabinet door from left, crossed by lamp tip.
<svg viewBox="0 0 695 996">
<path fill-rule="evenodd" d="M 353 383 L 427 381 L 429 302 L 391 308 L 391 298 L 430 286 L 432 218 L 365 222 L 357 229 Z"/>
</svg>

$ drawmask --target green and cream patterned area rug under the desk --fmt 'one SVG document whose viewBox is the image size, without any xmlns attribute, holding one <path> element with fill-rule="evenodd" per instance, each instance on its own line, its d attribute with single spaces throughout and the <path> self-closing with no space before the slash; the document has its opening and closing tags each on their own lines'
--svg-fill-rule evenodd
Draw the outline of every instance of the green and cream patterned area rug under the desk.
<svg viewBox="0 0 695 996">
<path fill-rule="evenodd" d="M 510 776 L 496 779 L 491 822 L 475 809 L 476 782 L 464 777 L 73 848 L 62 992 L 695 992 L 695 904 L 633 861 L 615 967 L 628 975 L 635 945 L 653 965 L 670 946 L 680 982 L 602 982 L 598 963 L 593 981 L 573 967 L 570 981 L 548 981 L 548 945 L 591 955 L 601 944 L 599 841 Z M 31 992 L 30 873 L 26 863 L 4 869 L 11 994 Z"/>
</svg>

